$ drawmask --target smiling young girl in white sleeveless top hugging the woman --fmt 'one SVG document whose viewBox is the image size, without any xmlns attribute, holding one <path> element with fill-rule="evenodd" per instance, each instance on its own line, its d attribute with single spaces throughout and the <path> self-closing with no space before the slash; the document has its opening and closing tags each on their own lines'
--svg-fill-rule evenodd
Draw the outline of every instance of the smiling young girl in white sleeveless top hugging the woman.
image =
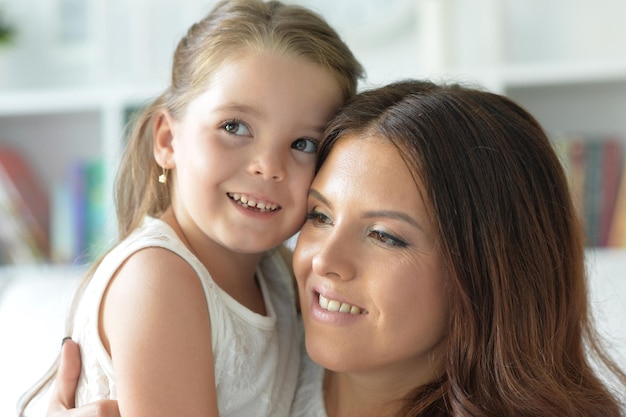
<svg viewBox="0 0 626 417">
<path fill-rule="evenodd" d="M 273 248 L 302 225 L 318 141 L 361 72 L 300 7 L 226 1 L 189 29 L 121 162 L 120 242 L 77 296 L 77 405 L 289 414 L 299 342 L 291 275 Z"/>
</svg>

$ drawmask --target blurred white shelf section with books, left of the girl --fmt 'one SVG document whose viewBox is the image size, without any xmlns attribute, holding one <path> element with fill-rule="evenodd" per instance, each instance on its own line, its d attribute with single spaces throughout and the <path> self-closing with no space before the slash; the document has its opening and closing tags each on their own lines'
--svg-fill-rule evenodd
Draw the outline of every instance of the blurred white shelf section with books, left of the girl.
<svg viewBox="0 0 626 417">
<path fill-rule="evenodd" d="M 0 94 L 0 266 L 83 264 L 109 246 L 128 117 L 157 93 L 117 87 Z M 16 167 L 8 162 L 17 158 L 22 172 L 11 181 Z M 31 200 L 20 201 L 18 188 Z M 30 220 L 28 206 L 46 211 L 45 220 Z M 42 230 L 45 237 L 35 242 Z"/>
</svg>

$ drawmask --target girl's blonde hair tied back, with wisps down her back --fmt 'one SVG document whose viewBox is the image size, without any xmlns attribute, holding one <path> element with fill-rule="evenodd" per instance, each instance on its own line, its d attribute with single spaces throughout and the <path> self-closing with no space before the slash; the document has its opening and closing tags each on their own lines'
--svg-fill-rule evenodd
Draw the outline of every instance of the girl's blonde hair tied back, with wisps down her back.
<svg viewBox="0 0 626 417">
<path fill-rule="evenodd" d="M 203 93 L 219 66 L 242 51 L 262 51 L 320 65 L 337 80 L 345 99 L 356 94 L 364 71 L 337 32 L 316 13 L 279 1 L 226 0 L 193 24 L 174 52 L 170 86 L 135 120 L 116 178 L 118 240 L 126 238 L 146 215 L 159 216 L 170 205 L 170 192 L 156 178 L 161 167 L 153 156 L 155 118 L 167 111 L 182 117 L 188 104 Z M 100 258 L 101 260 L 102 258 Z M 96 261 L 78 288 L 66 323 L 72 333 L 76 304 L 100 263 Z M 18 403 L 18 415 L 53 381 L 59 358 Z"/>
</svg>

